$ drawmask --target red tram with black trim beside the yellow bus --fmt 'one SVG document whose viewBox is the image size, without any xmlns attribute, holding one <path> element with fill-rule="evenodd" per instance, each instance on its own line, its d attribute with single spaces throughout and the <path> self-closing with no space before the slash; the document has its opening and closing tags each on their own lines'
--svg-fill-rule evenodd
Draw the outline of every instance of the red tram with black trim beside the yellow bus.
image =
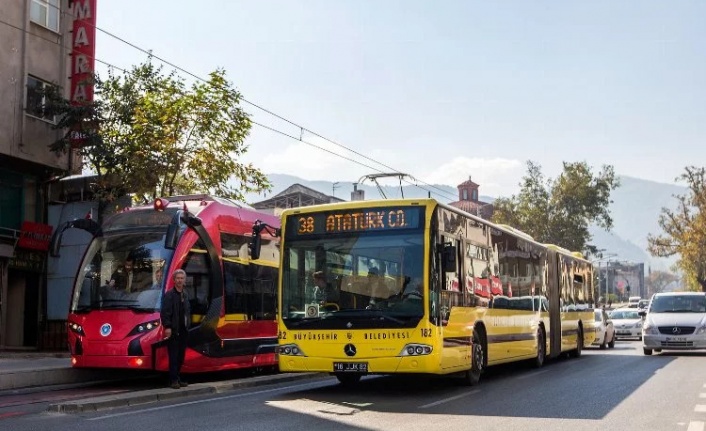
<svg viewBox="0 0 706 431">
<path fill-rule="evenodd" d="M 193 313 L 182 371 L 276 366 L 279 249 L 271 229 L 262 231 L 257 259 L 249 241 L 253 226 L 279 223 L 226 199 L 193 195 L 157 199 L 102 226 L 78 219 L 57 229 L 55 256 L 66 229 L 93 235 L 70 301 L 72 365 L 168 370 L 159 311 L 173 287 L 169 275 L 181 268 Z"/>
</svg>

